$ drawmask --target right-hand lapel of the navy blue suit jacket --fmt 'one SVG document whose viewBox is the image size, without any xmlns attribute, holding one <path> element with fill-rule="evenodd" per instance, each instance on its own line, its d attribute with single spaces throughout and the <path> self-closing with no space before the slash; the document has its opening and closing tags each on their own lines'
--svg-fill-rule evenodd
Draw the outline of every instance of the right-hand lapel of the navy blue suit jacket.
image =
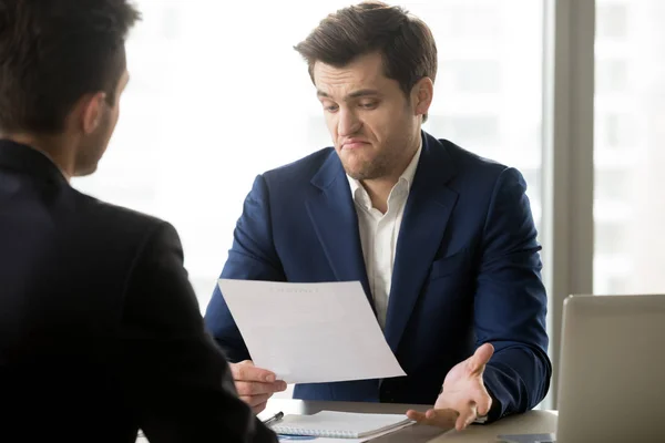
<svg viewBox="0 0 665 443">
<path fill-rule="evenodd" d="M 446 186 L 454 171 L 446 147 L 423 133 L 422 152 L 399 230 L 388 301 L 386 340 L 392 352 L 397 352 L 457 203 L 458 194 Z"/>
</svg>

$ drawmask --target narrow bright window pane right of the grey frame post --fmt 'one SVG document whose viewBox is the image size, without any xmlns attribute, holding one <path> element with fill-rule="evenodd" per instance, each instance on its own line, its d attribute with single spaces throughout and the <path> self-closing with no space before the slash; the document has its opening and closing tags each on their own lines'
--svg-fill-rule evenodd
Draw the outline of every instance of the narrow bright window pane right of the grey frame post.
<svg viewBox="0 0 665 443">
<path fill-rule="evenodd" d="M 594 293 L 665 292 L 665 2 L 596 1 Z"/>
</svg>

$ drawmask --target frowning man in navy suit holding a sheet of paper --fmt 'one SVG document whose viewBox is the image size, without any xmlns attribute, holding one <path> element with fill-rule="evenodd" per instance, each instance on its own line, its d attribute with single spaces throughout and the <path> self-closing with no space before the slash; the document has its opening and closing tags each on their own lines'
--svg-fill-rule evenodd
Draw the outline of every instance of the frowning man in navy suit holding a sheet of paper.
<svg viewBox="0 0 665 443">
<path fill-rule="evenodd" d="M 300 384 L 294 396 L 434 404 L 409 415 L 446 425 L 452 410 L 458 429 L 535 406 L 551 363 L 526 185 L 421 130 L 437 73 L 428 27 L 360 3 L 296 50 L 335 146 L 256 178 L 222 278 L 361 281 L 407 377 Z M 285 385 L 253 367 L 218 288 L 205 319 L 241 396 L 263 410 Z"/>
</svg>

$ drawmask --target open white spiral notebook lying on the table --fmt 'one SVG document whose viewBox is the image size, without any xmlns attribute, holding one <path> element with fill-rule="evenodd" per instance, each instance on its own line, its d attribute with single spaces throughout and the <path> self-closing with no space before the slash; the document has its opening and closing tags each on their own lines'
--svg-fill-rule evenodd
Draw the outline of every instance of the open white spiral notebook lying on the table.
<svg viewBox="0 0 665 443">
<path fill-rule="evenodd" d="M 361 439 L 391 429 L 398 430 L 411 422 L 405 414 L 321 411 L 311 415 L 286 415 L 272 429 L 285 435 Z"/>
</svg>

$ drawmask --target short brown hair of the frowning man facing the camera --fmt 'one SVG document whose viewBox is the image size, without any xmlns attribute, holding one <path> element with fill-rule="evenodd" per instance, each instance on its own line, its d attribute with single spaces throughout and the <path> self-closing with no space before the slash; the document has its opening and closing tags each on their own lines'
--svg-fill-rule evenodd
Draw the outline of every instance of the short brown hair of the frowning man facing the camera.
<svg viewBox="0 0 665 443">
<path fill-rule="evenodd" d="M 372 52 L 383 58 L 385 74 L 405 94 L 423 78 L 437 76 L 437 45 L 428 25 L 399 7 L 367 1 L 326 17 L 295 47 L 314 81 L 317 61 L 341 68 Z"/>
</svg>

